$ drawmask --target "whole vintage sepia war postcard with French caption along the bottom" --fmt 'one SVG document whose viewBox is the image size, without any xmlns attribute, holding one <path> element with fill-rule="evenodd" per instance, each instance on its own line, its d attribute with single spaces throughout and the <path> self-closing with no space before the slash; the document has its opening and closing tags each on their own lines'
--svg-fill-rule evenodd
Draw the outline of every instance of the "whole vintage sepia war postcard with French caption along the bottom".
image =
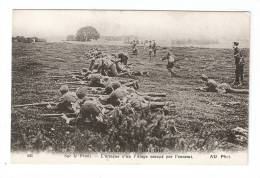
<svg viewBox="0 0 260 178">
<path fill-rule="evenodd" d="M 249 12 L 16 9 L 12 30 L 12 163 L 247 164 Z"/>
</svg>

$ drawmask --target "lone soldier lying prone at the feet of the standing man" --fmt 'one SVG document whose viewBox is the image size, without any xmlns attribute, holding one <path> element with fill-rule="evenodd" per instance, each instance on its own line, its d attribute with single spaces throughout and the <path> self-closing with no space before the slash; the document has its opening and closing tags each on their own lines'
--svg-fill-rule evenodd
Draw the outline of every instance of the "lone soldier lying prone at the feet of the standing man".
<svg viewBox="0 0 260 178">
<path fill-rule="evenodd" d="M 227 83 L 218 83 L 213 79 L 209 79 L 206 75 L 201 75 L 202 81 L 205 82 L 205 87 L 197 88 L 200 91 L 207 92 L 218 92 L 218 93 L 242 93 L 248 94 L 249 91 L 247 89 L 234 89 Z"/>
</svg>

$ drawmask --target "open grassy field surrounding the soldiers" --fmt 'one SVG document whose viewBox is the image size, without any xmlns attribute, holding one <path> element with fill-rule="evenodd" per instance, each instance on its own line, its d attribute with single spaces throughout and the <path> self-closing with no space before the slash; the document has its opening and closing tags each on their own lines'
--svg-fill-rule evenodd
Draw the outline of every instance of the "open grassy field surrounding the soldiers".
<svg viewBox="0 0 260 178">
<path fill-rule="evenodd" d="M 90 48 L 98 47 L 108 52 L 128 51 L 128 46 L 88 46 L 70 43 L 13 43 L 12 51 L 12 105 L 54 101 L 58 97 L 59 83 L 70 77 L 54 80 L 52 76 L 67 76 L 71 71 L 88 67 L 84 57 Z M 160 60 L 165 50 L 171 50 L 180 69 L 171 78 L 166 62 Z M 248 88 L 249 50 L 246 56 L 245 81 Z M 230 130 L 242 127 L 248 130 L 248 95 L 199 92 L 202 73 L 218 82 L 232 83 L 234 59 L 232 49 L 191 47 L 160 47 L 151 61 L 147 50 L 139 48 L 139 55 L 129 62 L 136 70 L 150 72 L 149 77 L 139 77 L 140 91 L 165 92 L 171 104 L 170 117 L 180 132 L 177 151 L 244 150 L 247 144 L 234 140 Z M 130 54 L 130 53 L 129 53 Z M 230 105 L 230 102 L 238 102 Z M 12 109 L 11 149 L 74 151 L 113 151 L 106 133 L 95 129 L 68 126 L 60 118 L 42 118 L 40 113 L 50 113 L 45 108 Z M 163 145 L 158 145 L 163 148 Z M 177 148 L 176 148 L 177 149 Z M 125 151 L 125 150 L 121 150 Z M 175 150 L 172 150 L 175 151 Z"/>
</svg>

